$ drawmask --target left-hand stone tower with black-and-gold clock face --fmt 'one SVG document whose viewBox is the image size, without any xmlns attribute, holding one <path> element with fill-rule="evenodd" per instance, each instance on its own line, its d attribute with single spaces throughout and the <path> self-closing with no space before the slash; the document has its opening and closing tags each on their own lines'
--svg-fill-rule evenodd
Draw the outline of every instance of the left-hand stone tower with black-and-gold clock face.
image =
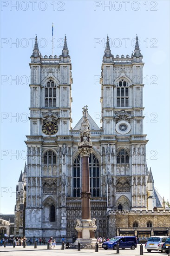
<svg viewBox="0 0 170 256">
<path fill-rule="evenodd" d="M 66 36 L 62 54 L 44 56 L 37 36 L 31 55 L 30 135 L 27 136 L 26 232 L 30 236 L 66 234 L 65 187 L 71 176 L 72 64 Z"/>
</svg>

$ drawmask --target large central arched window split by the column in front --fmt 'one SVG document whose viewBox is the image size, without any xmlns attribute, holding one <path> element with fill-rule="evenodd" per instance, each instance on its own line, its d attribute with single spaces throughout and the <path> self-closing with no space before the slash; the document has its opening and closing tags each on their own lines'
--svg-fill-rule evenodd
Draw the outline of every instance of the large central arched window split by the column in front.
<svg viewBox="0 0 170 256">
<path fill-rule="evenodd" d="M 81 164 L 80 156 L 75 159 L 73 163 L 73 196 L 80 196 L 80 175 Z M 89 171 L 90 171 L 90 192 L 91 196 L 100 196 L 100 174 L 99 174 L 99 162 L 95 155 L 91 154 L 89 157 Z"/>
</svg>

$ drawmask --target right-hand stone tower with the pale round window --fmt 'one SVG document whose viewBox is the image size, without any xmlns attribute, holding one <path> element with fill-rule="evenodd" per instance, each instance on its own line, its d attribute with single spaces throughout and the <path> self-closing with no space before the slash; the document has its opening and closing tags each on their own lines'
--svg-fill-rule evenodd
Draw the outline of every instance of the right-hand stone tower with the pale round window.
<svg viewBox="0 0 170 256">
<path fill-rule="evenodd" d="M 137 37 L 131 57 L 114 57 L 107 36 L 100 81 L 103 174 L 108 176 L 107 210 L 147 208 L 142 59 Z M 110 219 L 113 225 L 111 216 Z"/>
</svg>

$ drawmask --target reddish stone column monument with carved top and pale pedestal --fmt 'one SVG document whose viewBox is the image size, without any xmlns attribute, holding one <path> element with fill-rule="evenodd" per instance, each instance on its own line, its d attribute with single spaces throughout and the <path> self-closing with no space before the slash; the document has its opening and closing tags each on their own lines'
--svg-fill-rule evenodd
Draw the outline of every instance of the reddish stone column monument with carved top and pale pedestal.
<svg viewBox="0 0 170 256">
<path fill-rule="evenodd" d="M 95 219 L 91 220 L 90 210 L 90 176 L 89 176 L 89 155 L 92 153 L 92 141 L 90 138 L 89 121 L 87 118 L 87 106 L 83 108 L 83 122 L 81 123 L 80 141 L 78 151 L 81 156 L 82 165 L 82 193 L 81 209 L 82 219 L 77 219 L 75 229 L 78 231 L 78 241 L 82 245 L 96 243 L 94 232 L 97 229 Z"/>
</svg>

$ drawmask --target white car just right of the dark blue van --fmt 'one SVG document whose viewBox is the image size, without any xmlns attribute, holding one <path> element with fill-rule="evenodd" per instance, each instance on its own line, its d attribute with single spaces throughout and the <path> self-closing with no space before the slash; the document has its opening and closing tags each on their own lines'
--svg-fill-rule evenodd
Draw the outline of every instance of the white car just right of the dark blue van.
<svg viewBox="0 0 170 256">
<path fill-rule="evenodd" d="M 162 245 L 163 243 L 165 243 L 168 237 L 169 236 L 150 236 L 150 238 L 148 239 L 148 242 L 145 243 L 144 248 L 148 252 L 151 252 L 152 250 L 161 251 Z"/>
</svg>

